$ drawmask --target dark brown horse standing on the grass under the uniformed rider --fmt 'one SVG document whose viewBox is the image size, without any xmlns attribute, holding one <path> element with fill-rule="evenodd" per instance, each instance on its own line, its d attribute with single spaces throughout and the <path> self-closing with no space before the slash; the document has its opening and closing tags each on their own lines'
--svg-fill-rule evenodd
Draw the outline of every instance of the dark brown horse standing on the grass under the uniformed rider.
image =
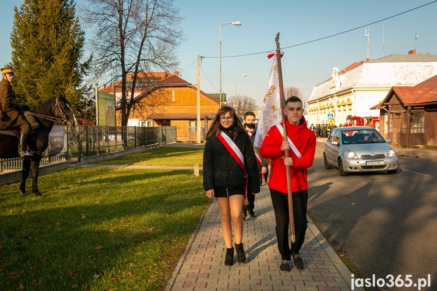
<svg viewBox="0 0 437 291">
<path fill-rule="evenodd" d="M 42 196 L 38 191 L 38 168 L 41 161 L 41 155 L 47 149 L 49 144 L 49 133 L 53 128 L 55 121 L 67 122 L 68 127 L 75 127 L 78 122 L 74 116 L 71 107 L 65 99 L 65 95 L 53 97 L 35 107 L 33 113 L 39 128 L 29 134 L 28 146 L 35 151 L 33 155 L 27 155 L 23 160 L 22 180 L 20 183 L 20 196 L 26 195 L 26 180 L 32 170 L 32 192 L 35 196 Z M 14 132 L 12 134 L 11 130 Z M 0 131 L 0 158 L 18 157 L 18 136 L 19 129 L 9 129 Z"/>
</svg>

